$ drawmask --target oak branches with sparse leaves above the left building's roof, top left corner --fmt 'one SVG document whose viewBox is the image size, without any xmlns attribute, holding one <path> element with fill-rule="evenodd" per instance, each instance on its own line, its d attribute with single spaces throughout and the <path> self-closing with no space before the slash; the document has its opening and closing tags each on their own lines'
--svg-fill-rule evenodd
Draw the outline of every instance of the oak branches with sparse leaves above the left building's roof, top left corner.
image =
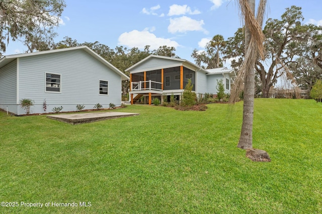
<svg viewBox="0 0 322 214">
<path fill-rule="evenodd" d="M 1 0 L 0 53 L 10 40 L 22 41 L 29 52 L 48 50 L 65 7 L 63 0 Z"/>
</svg>

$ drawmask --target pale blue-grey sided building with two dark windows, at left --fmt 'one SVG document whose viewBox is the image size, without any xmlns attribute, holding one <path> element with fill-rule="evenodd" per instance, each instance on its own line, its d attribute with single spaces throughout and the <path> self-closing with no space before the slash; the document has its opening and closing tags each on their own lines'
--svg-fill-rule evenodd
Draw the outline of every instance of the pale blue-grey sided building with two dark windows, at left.
<svg viewBox="0 0 322 214">
<path fill-rule="evenodd" d="M 121 105 L 122 80 L 129 78 L 87 46 L 9 55 L 0 60 L 0 108 L 25 114 L 21 99 L 32 99 L 30 113 L 54 107 L 75 111 L 100 103 Z"/>
</svg>

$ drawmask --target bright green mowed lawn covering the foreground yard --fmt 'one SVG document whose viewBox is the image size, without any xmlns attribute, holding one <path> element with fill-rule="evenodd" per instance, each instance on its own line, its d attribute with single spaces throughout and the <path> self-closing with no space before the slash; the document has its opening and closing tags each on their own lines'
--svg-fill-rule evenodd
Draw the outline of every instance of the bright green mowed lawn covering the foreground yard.
<svg viewBox="0 0 322 214">
<path fill-rule="evenodd" d="M 0 212 L 322 212 L 321 103 L 255 100 L 253 147 L 271 162 L 252 162 L 236 147 L 243 102 L 115 111 L 140 115 L 71 125 L 1 112 L 0 200 L 19 206 Z"/>
</svg>

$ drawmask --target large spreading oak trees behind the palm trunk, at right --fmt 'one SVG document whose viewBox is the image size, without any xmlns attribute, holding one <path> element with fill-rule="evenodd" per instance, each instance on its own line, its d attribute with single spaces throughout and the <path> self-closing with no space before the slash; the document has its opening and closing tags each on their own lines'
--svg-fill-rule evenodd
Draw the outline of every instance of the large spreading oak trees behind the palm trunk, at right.
<svg viewBox="0 0 322 214">
<path fill-rule="evenodd" d="M 322 27 L 304 25 L 303 20 L 301 8 L 296 6 L 287 8 L 280 20 L 267 20 L 263 30 L 266 52 L 264 58 L 258 56 L 255 66 L 256 94 L 262 92 L 262 97 L 268 97 L 278 78 L 295 80 L 293 86 L 296 83 L 309 91 L 322 79 Z M 221 67 L 223 61 L 231 59 L 232 68 L 238 72 L 245 57 L 244 31 L 237 29 L 226 41 L 215 35 L 205 51 L 195 49 L 191 57 L 206 69 Z"/>
</svg>

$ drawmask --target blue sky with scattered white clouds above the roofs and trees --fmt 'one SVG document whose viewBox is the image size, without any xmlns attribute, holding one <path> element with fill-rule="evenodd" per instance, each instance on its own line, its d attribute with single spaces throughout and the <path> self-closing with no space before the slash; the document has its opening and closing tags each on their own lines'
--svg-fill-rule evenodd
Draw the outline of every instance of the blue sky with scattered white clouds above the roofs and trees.
<svg viewBox="0 0 322 214">
<path fill-rule="evenodd" d="M 242 26 L 235 0 L 65 0 L 56 42 L 68 36 L 78 43 L 100 42 L 150 50 L 167 45 L 176 55 L 194 62 L 192 51 L 204 49 L 217 34 L 226 40 Z M 320 0 L 268 0 L 266 18 L 280 19 L 285 8 L 302 8 L 304 22 L 322 25 Z M 24 53 L 19 42 L 10 42 L 4 55 Z M 226 65 L 229 67 L 229 65 Z"/>
</svg>

